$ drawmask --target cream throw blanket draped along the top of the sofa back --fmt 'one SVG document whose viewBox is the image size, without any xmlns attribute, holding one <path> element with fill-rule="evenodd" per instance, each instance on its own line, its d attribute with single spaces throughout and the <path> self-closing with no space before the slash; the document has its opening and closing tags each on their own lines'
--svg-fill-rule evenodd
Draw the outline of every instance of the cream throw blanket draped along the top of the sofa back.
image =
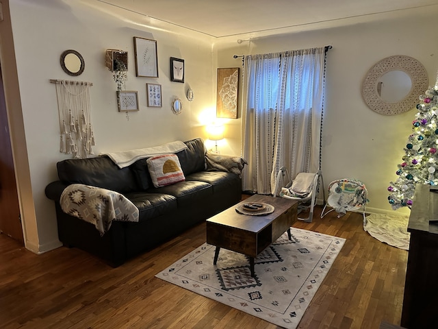
<svg viewBox="0 0 438 329">
<path fill-rule="evenodd" d="M 131 149 L 129 151 L 106 153 L 102 155 L 109 156 L 119 168 L 124 168 L 143 158 L 175 154 L 183 149 L 187 149 L 187 145 L 185 145 L 184 142 L 175 141 L 159 146 L 146 147 L 144 149 Z"/>
</svg>

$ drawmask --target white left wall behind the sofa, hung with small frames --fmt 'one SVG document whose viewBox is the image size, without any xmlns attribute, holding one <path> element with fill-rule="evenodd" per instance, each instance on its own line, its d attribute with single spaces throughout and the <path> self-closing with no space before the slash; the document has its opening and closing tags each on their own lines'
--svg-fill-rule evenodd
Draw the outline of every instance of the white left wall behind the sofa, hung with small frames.
<svg viewBox="0 0 438 329">
<path fill-rule="evenodd" d="M 10 7 L 39 236 L 38 241 L 28 237 L 27 244 L 34 246 L 29 249 L 44 252 L 59 245 L 54 204 L 44 195 L 44 188 L 57 180 L 56 162 L 71 158 L 59 151 L 57 97 L 55 84 L 49 80 L 93 83 L 94 154 L 205 138 L 205 110 L 212 108 L 214 97 L 211 42 L 192 32 L 167 32 L 158 25 L 151 28 L 148 25 L 154 22 L 138 14 L 108 14 L 107 5 L 98 1 L 19 0 Z M 159 78 L 136 77 L 133 36 L 157 40 Z M 66 49 L 79 51 L 85 60 L 85 71 L 79 77 L 62 71 L 60 55 Z M 116 83 L 105 66 L 105 49 L 129 52 L 126 88 L 138 90 L 140 100 L 140 111 L 130 112 L 129 121 L 117 110 Z M 170 82 L 170 57 L 185 60 L 184 84 Z M 162 84 L 162 108 L 146 106 L 146 82 Z M 185 98 L 189 86 L 194 90 L 192 102 Z M 175 97 L 183 102 L 179 115 L 170 108 Z"/>
</svg>

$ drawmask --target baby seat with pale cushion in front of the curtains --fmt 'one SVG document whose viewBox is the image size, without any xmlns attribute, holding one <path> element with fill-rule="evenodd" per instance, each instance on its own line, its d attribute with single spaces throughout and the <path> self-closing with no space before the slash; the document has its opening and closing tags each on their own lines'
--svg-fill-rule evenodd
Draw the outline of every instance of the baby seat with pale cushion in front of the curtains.
<svg viewBox="0 0 438 329">
<path fill-rule="evenodd" d="M 281 182 L 288 182 L 285 187 L 281 187 Z M 309 210 L 308 217 L 299 217 L 301 221 L 311 223 L 313 219 L 313 207 L 316 202 L 319 186 L 322 186 L 324 194 L 324 182 L 322 180 L 322 172 L 318 170 L 316 173 L 298 173 L 296 178 L 289 182 L 289 174 L 285 167 L 281 167 L 276 175 L 274 197 L 279 196 L 285 199 L 290 199 L 298 202 L 298 214 L 303 210 Z"/>
</svg>

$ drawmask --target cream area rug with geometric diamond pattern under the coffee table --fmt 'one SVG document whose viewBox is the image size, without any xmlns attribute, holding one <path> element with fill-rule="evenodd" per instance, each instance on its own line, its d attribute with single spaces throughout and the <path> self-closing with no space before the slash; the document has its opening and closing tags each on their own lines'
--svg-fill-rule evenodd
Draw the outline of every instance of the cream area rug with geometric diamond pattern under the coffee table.
<svg viewBox="0 0 438 329">
<path fill-rule="evenodd" d="M 179 287 L 283 328 L 295 329 L 333 265 L 345 239 L 291 228 L 255 259 L 255 276 L 242 254 L 204 243 L 157 274 Z"/>
</svg>

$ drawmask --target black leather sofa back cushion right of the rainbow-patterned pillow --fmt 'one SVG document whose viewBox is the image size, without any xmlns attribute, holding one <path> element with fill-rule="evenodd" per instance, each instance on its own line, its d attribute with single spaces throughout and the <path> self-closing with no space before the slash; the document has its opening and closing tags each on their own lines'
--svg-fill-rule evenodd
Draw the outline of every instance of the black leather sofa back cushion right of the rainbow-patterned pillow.
<svg viewBox="0 0 438 329">
<path fill-rule="evenodd" d="M 205 146 L 204 141 L 201 138 L 195 138 L 191 141 L 185 141 L 187 149 L 179 151 L 177 156 L 179 163 L 181 163 L 181 169 L 183 169 L 184 175 L 190 175 L 197 171 L 205 170 Z"/>
</svg>

